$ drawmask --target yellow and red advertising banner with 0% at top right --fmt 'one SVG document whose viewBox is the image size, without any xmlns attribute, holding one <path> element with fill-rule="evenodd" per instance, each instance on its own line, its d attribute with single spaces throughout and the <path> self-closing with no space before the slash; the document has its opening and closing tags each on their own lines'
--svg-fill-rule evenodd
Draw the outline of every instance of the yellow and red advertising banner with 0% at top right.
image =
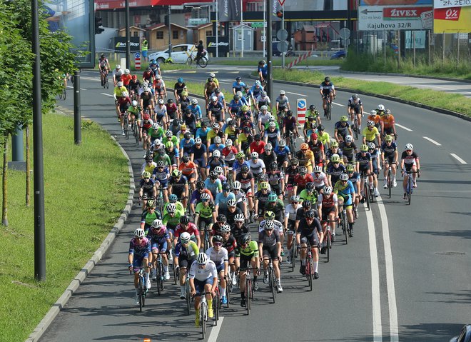
<svg viewBox="0 0 471 342">
<path fill-rule="evenodd" d="M 435 34 L 470 33 L 471 6 L 434 9 L 433 32 Z"/>
</svg>

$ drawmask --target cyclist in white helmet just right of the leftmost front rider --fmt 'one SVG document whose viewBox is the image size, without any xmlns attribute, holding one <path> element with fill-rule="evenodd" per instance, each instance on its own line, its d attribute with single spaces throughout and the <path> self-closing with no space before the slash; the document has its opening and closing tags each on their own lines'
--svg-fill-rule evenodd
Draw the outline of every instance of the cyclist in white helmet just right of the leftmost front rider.
<svg viewBox="0 0 471 342">
<path fill-rule="evenodd" d="M 158 259 L 158 253 L 162 256 L 163 263 L 163 272 L 165 273 L 165 279 L 168 281 L 170 279 L 170 273 L 168 272 L 168 258 L 167 258 L 167 249 L 168 246 L 171 246 L 170 234 L 167 231 L 167 227 L 163 226 L 161 220 L 154 220 L 152 222 L 151 228 L 147 232 L 147 238 L 151 241 L 151 251 L 152 251 L 152 261 L 153 261 L 153 270 L 152 270 L 152 280 L 157 280 L 157 271 L 156 271 L 156 261 Z"/>
</svg>

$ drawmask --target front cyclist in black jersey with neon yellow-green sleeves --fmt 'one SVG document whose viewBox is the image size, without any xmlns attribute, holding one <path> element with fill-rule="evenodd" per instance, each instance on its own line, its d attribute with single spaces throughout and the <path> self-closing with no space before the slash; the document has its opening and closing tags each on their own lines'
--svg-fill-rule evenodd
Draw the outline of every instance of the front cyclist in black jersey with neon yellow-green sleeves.
<svg viewBox="0 0 471 342">
<path fill-rule="evenodd" d="M 257 268 L 260 269 L 260 261 L 258 259 L 258 243 L 253 241 L 250 233 L 243 233 L 240 236 L 238 246 L 236 248 L 236 268 Z M 246 271 L 239 272 L 239 288 L 240 288 L 240 306 L 245 306 L 245 276 Z M 253 275 L 253 290 L 258 290 L 257 283 L 258 271 Z"/>
</svg>

